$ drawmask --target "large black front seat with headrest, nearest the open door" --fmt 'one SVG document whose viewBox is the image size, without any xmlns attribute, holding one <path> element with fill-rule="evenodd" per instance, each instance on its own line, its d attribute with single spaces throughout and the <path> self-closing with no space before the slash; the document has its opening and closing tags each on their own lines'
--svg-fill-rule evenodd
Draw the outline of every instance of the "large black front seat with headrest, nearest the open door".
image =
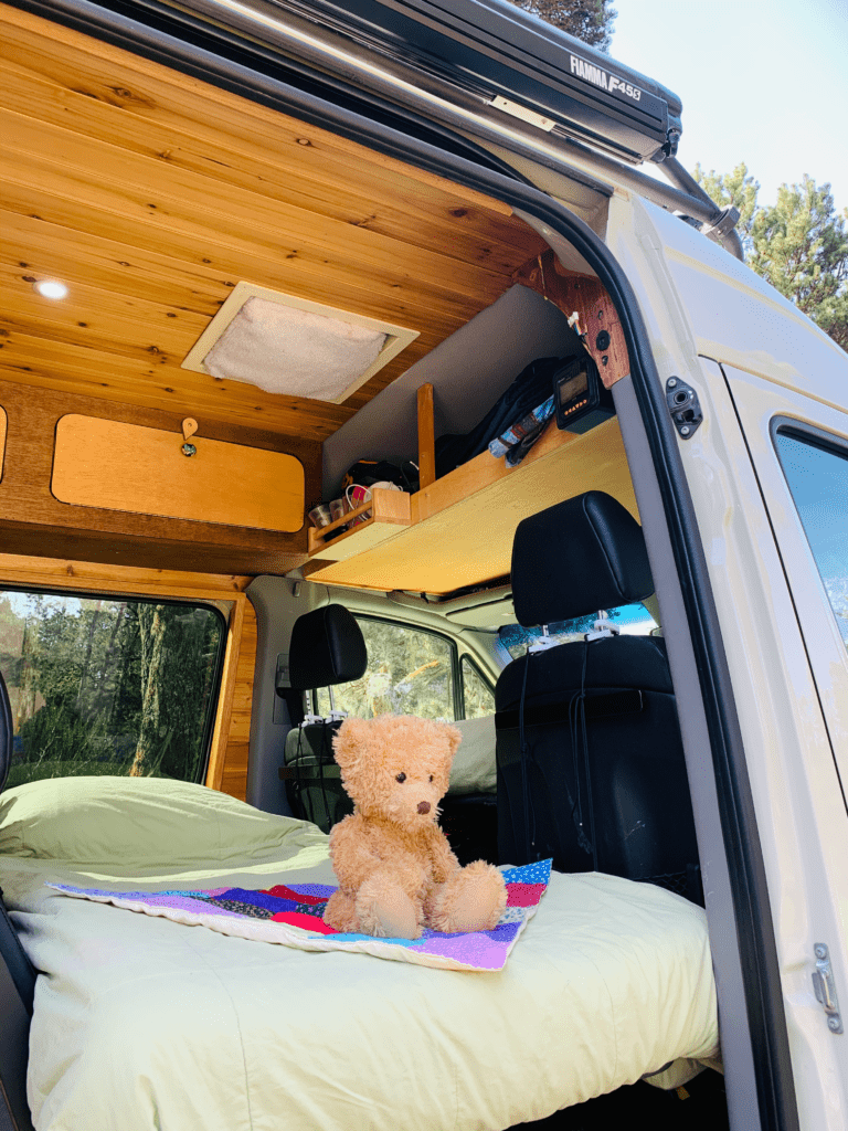
<svg viewBox="0 0 848 1131">
<path fill-rule="evenodd" d="M 526 628 L 650 596 L 641 527 L 599 491 L 525 519 L 512 550 Z M 603 630 L 602 630 L 603 631 Z M 495 688 L 501 863 L 660 883 L 700 901 L 689 780 L 658 637 L 605 634 L 530 653 Z"/>
</svg>

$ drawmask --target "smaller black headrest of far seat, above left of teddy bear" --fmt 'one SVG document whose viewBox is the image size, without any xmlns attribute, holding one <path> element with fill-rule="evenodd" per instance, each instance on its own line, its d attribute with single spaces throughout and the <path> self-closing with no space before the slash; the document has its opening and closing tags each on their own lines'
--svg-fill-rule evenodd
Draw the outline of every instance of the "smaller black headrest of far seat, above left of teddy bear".
<svg viewBox="0 0 848 1131">
<path fill-rule="evenodd" d="M 294 622 L 288 681 L 295 691 L 349 683 L 367 666 L 362 629 L 344 605 L 322 605 Z"/>
</svg>

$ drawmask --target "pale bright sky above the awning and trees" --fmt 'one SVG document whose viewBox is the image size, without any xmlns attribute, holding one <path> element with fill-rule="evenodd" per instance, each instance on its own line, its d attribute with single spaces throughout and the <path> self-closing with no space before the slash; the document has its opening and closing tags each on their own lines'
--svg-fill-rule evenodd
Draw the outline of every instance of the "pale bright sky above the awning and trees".
<svg viewBox="0 0 848 1131">
<path fill-rule="evenodd" d="M 745 162 L 761 205 L 830 182 L 848 208 L 848 0 L 614 0 L 609 54 L 683 102 L 677 157 Z M 648 166 L 642 166 L 646 172 Z"/>
</svg>

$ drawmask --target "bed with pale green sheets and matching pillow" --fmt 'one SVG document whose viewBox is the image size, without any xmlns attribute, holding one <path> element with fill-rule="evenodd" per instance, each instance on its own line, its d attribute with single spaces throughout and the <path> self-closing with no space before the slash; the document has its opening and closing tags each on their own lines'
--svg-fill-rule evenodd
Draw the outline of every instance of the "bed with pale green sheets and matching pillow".
<svg viewBox="0 0 848 1131">
<path fill-rule="evenodd" d="M 334 882 L 323 834 L 200 786 L 3 794 L 0 887 L 42 972 L 37 1131 L 495 1131 L 717 1063 L 704 913 L 648 884 L 552 875 L 495 973 L 311 953 L 46 886 L 297 882 Z"/>
</svg>

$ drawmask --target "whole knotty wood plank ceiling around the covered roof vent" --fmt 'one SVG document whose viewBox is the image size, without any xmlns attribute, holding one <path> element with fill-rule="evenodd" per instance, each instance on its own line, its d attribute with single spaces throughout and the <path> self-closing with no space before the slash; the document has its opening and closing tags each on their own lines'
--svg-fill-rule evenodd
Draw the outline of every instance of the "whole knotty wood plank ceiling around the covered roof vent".
<svg viewBox="0 0 848 1131">
<path fill-rule="evenodd" d="M 320 441 L 544 247 L 481 193 L 6 6 L 0 53 L 6 380 Z M 241 279 L 421 336 L 343 405 L 181 370 Z"/>
</svg>

